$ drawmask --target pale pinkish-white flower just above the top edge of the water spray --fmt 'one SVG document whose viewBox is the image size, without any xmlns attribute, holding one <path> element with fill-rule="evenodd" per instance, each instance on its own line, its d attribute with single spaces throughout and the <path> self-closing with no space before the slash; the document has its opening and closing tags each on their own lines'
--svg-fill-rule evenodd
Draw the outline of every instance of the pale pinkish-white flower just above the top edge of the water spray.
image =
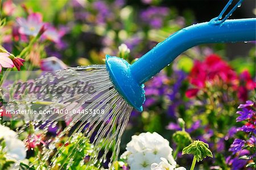
<svg viewBox="0 0 256 170">
<path fill-rule="evenodd" d="M 43 71 L 54 71 L 66 69 L 68 66 L 57 57 L 48 57 L 41 60 L 40 67 Z"/>
</svg>

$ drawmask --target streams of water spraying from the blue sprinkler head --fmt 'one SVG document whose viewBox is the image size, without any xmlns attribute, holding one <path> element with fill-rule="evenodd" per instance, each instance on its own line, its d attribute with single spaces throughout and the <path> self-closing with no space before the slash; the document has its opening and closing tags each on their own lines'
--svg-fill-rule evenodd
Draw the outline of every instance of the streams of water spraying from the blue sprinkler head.
<svg viewBox="0 0 256 170">
<path fill-rule="evenodd" d="M 112 151 L 110 163 L 118 158 L 121 136 L 133 108 L 115 90 L 104 65 L 59 70 L 54 73 L 43 74 L 40 78 L 35 79 L 36 84 L 47 86 L 47 84 L 55 83 L 56 88 L 63 86 L 74 87 L 77 81 L 89 82 L 90 86 L 94 87 L 95 92 L 92 94 L 75 93 L 73 95 L 68 93 L 29 95 L 24 96 L 23 100 L 26 101 L 20 101 L 19 99 L 19 101 L 10 102 L 7 105 L 7 108 L 15 109 L 30 108 L 33 104 L 40 104 L 39 109 L 41 110 L 65 109 L 69 113 L 47 116 L 36 115 L 34 121 L 27 121 L 27 126 L 32 124 L 36 127 L 36 130 L 39 130 L 38 127 L 40 125 L 44 125 L 43 134 L 47 133 L 49 126 L 56 126 L 58 120 L 69 121 L 63 131 L 60 131 L 47 146 L 43 146 L 42 156 L 34 161 L 34 164 L 36 164 L 40 159 L 40 164 L 36 166 L 38 169 L 46 165 L 50 159 L 51 163 L 48 168 L 56 166 L 56 159 L 61 155 L 61 148 L 56 151 L 56 143 L 67 134 L 69 134 L 67 143 L 72 142 L 72 139 L 76 139 L 77 135 L 81 133 L 91 139 L 93 147 L 90 151 L 88 165 L 105 163 L 110 150 Z M 104 111 L 104 114 L 72 114 L 74 111 L 81 112 L 86 109 L 88 111 L 89 109 L 92 109 L 92 111 Z M 27 126 L 23 126 L 19 133 L 22 133 Z M 40 137 L 37 142 L 42 138 Z M 75 149 L 68 153 L 68 162 L 58 165 L 59 169 L 68 169 L 77 152 L 80 152 L 83 147 L 80 141 L 75 146 Z M 64 147 L 64 145 L 61 147 Z M 104 154 L 100 158 L 98 155 L 102 151 L 102 147 L 104 147 Z M 84 157 L 86 156 L 88 155 L 84 155 Z M 111 164 L 109 164 L 109 167 L 111 167 Z"/>
</svg>

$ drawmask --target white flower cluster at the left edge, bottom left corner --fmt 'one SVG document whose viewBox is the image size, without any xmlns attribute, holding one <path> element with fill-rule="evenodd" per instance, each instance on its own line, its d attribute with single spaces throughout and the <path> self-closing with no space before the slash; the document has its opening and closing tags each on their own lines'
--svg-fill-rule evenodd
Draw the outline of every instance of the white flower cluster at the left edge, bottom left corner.
<svg viewBox="0 0 256 170">
<path fill-rule="evenodd" d="M 5 141 L 7 158 L 17 161 L 26 158 L 26 147 L 22 141 L 16 138 L 15 131 L 0 125 L 0 138 L 3 138 Z"/>
</svg>

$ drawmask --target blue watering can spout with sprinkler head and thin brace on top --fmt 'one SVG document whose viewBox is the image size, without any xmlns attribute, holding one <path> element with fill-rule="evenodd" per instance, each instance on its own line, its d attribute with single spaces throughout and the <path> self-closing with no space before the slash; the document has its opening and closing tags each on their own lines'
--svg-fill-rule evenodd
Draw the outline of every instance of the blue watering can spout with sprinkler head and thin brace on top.
<svg viewBox="0 0 256 170">
<path fill-rule="evenodd" d="M 107 55 L 106 68 L 119 94 L 132 107 L 142 112 L 145 100 L 143 83 L 159 73 L 185 50 L 200 44 L 256 40 L 256 18 L 227 20 L 234 10 L 241 6 L 243 0 L 238 1 L 221 19 L 232 1 L 228 2 L 217 18 L 181 29 L 132 65 L 122 58 Z"/>
</svg>

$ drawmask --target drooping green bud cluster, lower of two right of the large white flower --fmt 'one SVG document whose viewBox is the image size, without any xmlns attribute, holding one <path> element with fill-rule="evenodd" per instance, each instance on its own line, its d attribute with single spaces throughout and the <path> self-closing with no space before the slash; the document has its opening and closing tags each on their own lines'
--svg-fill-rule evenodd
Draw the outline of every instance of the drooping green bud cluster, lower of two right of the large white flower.
<svg viewBox="0 0 256 170">
<path fill-rule="evenodd" d="M 209 145 L 202 141 L 194 141 L 191 145 L 183 148 L 182 154 L 192 154 L 195 156 L 197 162 L 203 160 L 207 156 L 213 157 L 212 152 L 209 150 Z"/>
</svg>

